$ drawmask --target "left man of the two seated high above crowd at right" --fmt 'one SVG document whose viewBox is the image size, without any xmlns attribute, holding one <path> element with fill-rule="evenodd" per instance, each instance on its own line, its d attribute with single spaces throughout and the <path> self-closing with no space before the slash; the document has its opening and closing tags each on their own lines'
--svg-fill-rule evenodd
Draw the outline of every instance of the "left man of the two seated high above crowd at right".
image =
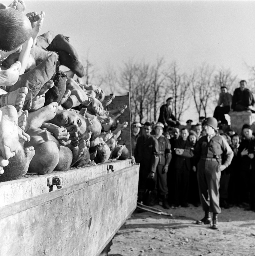
<svg viewBox="0 0 255 256">
<path fill-rule="evenodd" d="M 221 124 L 228 124 L 225 114 L 229 113 L 232 105 L 232 95 L 228 92 L 226 86 L 221 87 L 221 93 L 218 100 L 218 105 L 214 110 L 213 117 Z"/>
</svg>

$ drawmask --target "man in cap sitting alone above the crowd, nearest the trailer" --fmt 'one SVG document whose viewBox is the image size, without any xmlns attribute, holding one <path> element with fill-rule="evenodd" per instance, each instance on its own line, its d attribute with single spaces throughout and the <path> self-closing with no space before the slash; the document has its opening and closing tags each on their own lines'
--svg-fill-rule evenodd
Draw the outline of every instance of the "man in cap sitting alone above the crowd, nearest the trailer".
<svg viewBox="0 0 255 256">
<path fill-rule="evenodd" d="M 165 131 L 168 126 L 179 125 L 180 123 L 176 120 L 176 117 L 173 115 L 171 106 L 173 104 L 173 98 L 170 97 L 167 99 L 167 104 L 164 104 L 160 107 L 158 122 L 164 125 Z"/>
</svg>

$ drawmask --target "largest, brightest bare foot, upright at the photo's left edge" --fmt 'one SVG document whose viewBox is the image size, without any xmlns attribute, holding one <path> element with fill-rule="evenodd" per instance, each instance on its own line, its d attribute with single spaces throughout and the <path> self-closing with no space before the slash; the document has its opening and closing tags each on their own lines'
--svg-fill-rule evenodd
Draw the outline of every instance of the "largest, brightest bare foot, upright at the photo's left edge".
<svg viewBox="0 0 255 256">
<path fill-rule="evenodd" d="M 0 155 L 9 159 L 15 156 L 19 146 L 18 114 L 14 106 L 5 106 L 0 110 Z"/>
</svg>

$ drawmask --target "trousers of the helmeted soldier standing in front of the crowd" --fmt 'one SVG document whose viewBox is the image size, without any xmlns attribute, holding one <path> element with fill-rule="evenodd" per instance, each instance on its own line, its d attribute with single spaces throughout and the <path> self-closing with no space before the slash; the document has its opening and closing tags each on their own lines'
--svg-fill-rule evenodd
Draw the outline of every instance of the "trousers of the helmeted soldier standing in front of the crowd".
<svg viewBox="0 0 255 256">
<path fill-rule="evenodd" d="M 198 188 L 199 197 L 205 212 L 221 213 L 220 208 L 220 178 L 221 172 L 218 170 L 219 163 L 211 160 L 200 159 L 198 162 Z"/>
</svg>

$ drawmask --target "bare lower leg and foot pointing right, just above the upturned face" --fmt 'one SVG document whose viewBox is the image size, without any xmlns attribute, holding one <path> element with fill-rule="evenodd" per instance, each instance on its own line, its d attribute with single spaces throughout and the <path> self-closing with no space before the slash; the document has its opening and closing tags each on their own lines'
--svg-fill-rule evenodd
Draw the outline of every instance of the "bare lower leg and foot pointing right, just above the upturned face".
<svg viewBox="0 0 255 256">
<path fill-rule="evenodd" d="M 47 122 L 55 117 L 57 109 L 57 102 L 52 102 L 43 108 L 29 113 L 25 130 L 27 130 L 31 125 L 40 128 L 42 123 Z"/>
</svg>

